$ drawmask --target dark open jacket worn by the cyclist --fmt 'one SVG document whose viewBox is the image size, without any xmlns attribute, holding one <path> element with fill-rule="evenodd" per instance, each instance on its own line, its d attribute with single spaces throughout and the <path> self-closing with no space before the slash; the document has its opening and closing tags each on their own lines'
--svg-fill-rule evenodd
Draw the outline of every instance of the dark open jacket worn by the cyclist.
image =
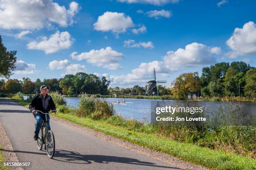
<svg viewBox="0 0 256 170">
<path fill-rule="evenodd" d="M 43 102 L 40 96 L 41 93 L 38 93 L 35 97 L 33 97 L 31 103 L 29 104 L 29 110 L 32 112 L 33 110 L 40 110 L 41 112 L 49 112 L 50 110 L 56 110 L 54 101 L 52 100 L 51 96 L 47 94 L 49 104 L 47 109 L 45 110 L 43 107 Z"/>
</svg>

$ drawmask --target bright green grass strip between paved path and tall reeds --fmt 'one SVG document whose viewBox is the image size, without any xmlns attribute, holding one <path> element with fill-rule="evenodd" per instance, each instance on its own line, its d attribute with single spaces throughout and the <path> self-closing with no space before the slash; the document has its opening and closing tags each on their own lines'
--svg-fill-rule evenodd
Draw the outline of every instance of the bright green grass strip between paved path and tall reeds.
<svg viewBox="0 0 256 170">
<path fill-rule="evenodd" d="M 28 101 L 13 99 L 21 105 L 28 107 Z M 256 169 L 256 160 L 246 158 L 235 153 L 227 153 L 222 150 L 212 150 L 190 143 L 179 143 L 164 136 L 156 136 L 139 132 L 134 128 L 123 125 L 113 125 L 110 120 L 92 120 L 88 117 L 78 117 L 71 114 L 58 113 L 56 117 L 74 122 L 84 127 L 92 128 L 102 133 L 112 135 L 116 138 L 127 140 L 137 145 L 146 146 L 153 150 L 159 150 L 169 155 L 173 155 L 182 160 L 203 165 L 207 168 L 217 168 L 220 170 L 253 170 Z M 129 129 L 130 128 L 130 129 Z"/>
</svg>

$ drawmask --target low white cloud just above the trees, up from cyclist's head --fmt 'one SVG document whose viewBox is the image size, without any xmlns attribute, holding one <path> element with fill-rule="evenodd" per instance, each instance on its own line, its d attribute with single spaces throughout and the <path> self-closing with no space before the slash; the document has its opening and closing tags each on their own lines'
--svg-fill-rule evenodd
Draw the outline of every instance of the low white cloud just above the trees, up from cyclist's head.
<svg viewBox="0 0 256 170">
<path fill-rule="evenodd" d="M 67 75 L 67 74 L 76 74 L 77 72 L 85 72 L 86 68 L 84 65 L 80 64 L 71 64 L 71 62 L 67 59 L 56 61 L 53 60 L 49 62 L 49 68 L 50 70 L 59 70 L 64 69 L 66 70 L 65 73 L 61 74 L 61 76 Z"/>
</svg>

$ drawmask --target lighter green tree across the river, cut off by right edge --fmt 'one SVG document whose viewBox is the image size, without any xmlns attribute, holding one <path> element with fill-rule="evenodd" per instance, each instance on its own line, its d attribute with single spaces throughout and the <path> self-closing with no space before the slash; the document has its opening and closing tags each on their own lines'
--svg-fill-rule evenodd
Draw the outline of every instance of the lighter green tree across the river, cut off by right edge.
<svg viewBox="0 0 256 170">
<path fill-rule="evenodd" d="M 256 97 L 256 69 L 251 68 L 245 75 L 246 85 L 244 87 L 244 93 L 248 97 Z"/>
</svg>

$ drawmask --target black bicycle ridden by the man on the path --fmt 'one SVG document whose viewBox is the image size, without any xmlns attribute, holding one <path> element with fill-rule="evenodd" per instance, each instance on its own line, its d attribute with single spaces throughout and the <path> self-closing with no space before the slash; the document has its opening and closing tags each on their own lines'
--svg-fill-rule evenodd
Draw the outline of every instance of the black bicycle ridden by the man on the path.
<svg viewBox="0 0 256 170">
<path fill-rule="evenodd" d="M 52 110 L 51 112 L 54 112 L 55 110 Z M 36 112 L 41 112 L 40 110 L 36 110 Z M 49 113 L 51 113 L 49 112 Z M 42 120 L 41 123 L 41 128 L 40 128 L 40 132 L 38 134 L 38 139 L 37 139 L 37 148 L 38 150 L 42 150 L 43 145 L 44 145 L 44 149 L 46 150 L 46 153 L 48 155 L 49 158 L 52 158 L 54 156 L 55 153 L 55 140 L 54 140 L 54 134 L 51 130 L 48 130 L 48 126 L 47 126 L 47 114 L 49 113 L 44 113 L 41 112 L 42 114 L 45 115 L 46 117 L 46 122 L 44 122 L 44 120 Z M 35 124 L 36 126 L 36 124 Z M 44 131 L 45 128 L 45 131 Z"/>
</svg>

